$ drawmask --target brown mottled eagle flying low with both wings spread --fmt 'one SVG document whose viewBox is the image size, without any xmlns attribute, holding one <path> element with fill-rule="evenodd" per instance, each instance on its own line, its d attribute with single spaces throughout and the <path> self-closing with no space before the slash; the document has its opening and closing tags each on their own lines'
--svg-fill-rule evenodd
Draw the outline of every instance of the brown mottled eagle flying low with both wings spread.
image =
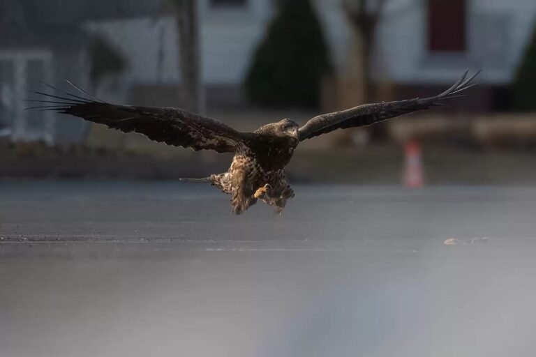
<svg viewBox="0 0 536 357">
<path fill-rule="evenodd" d="M 458 82 L 438 96 L 359 105 L 341 112 L 315 116 L 301 128 L 295 121 L 283 119 L 261 126 L 254 132 L 239 132 L 219 121 L 179 108 L 110 104 L 70 82 L 84 93 L 85 98 L 59 89 L 56 90 L 65 96 L 35 91 L 50 99 L 32 100 L 45 102 L 46 105 L 29 109 L 79 116 L 87 121 L 105 124 L 108 128 L 140 132 L 156 142 L 189 147 L 195 151 L 207 149 L 234 153 L 227 172 L 182 181 L 216 185 L 231 195 L 232 211 L 237 214 L 244 212 L 258 199 L 275 206 L 276 213 L 281 213 L 287 200 L 294 197 L 294 191 L 285 176 L 285 167 L 300 142 L 337 129 L 369 126 L 395 116 L 442 105 L 443 100 L 456 98 L 459 96 L 457 93 L 473 86 L 470 83 L 477 74 L 468 77 L 466 71 Z"/>
</svg>

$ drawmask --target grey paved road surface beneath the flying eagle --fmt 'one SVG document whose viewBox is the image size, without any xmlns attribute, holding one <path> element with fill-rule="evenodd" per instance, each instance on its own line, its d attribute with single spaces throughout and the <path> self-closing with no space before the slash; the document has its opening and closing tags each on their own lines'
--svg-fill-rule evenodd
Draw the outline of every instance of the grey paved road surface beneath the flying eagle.
<svg viewBox="0 0 536 357">
<path fill-rule="evenodd" d="M 0 183 L 0 356 L 533 356 L 536 188 Z"/>
</svg>

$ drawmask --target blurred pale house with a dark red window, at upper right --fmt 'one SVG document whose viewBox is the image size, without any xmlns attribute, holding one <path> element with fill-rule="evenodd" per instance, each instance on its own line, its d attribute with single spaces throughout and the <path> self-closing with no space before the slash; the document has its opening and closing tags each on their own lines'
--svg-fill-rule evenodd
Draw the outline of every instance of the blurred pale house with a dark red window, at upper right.
<svg viewBox="0 0 536 357">
<path fill-rule="evenodd" d="M 375 76 L 394 83 L 398 97 L 424 96 L 466 68 L 482 69 L 466 104 L 507 109 L 507 86 L 535 20 L 533 0 L 386 0 Z"/>
</svg>

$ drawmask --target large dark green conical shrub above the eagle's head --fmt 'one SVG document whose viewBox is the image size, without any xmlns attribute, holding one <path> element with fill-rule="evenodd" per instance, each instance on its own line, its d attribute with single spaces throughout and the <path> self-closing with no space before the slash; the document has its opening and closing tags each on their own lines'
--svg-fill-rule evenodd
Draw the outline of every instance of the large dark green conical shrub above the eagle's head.
<svg viewBox="0 0 536 357">
<path fill-rule="evenodd" d="M 331 65 L 322 27 L 309 0 L 280 0 L 246 75 L 256 105 L 316 107 Z"/>
</svg>

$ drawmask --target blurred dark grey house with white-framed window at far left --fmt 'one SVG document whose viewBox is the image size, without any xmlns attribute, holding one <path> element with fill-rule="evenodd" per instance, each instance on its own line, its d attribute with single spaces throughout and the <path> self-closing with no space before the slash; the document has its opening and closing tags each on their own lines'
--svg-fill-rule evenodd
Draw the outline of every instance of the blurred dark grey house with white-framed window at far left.
<svg viewBox="0 0 536 357">
<path fill-rule="evenodd" d="M 143 16 L 151 1 L 0 0 L 0 137 L 15 141 L 81 142 L 88 124 L 57 121 L 57 114 L 24 110 L 30 91 L 54 93 L 40 82 L 90 86 L 91 19 Z M 131 4 L 132 6 L 131 8 Z M 56 93 L 59 95 L 59 93 Z"/>
</svg>

